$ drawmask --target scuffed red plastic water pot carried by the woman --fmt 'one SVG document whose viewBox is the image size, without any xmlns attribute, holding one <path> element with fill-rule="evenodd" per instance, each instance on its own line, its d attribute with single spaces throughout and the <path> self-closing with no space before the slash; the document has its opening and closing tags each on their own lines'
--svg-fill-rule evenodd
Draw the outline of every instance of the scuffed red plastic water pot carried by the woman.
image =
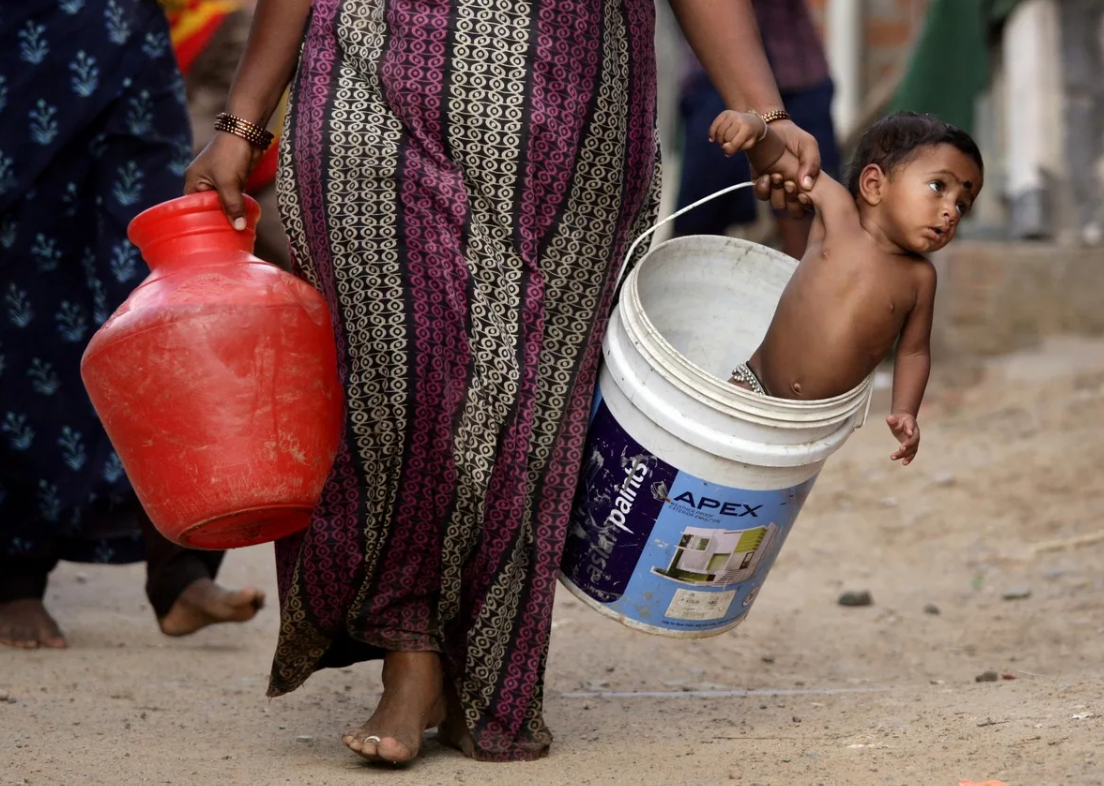
<svg viewBox="0 0 1104 786">
<path fill-rule="evenodd" d="M 93 336 L 85 387 L 138 498 L 174 543 L 231 549 L 310 523 L 333 464 L 342 393 L 330 312 L 253 256 L 217 194 L 129 227 L 150 275 Z"/>
</svg>

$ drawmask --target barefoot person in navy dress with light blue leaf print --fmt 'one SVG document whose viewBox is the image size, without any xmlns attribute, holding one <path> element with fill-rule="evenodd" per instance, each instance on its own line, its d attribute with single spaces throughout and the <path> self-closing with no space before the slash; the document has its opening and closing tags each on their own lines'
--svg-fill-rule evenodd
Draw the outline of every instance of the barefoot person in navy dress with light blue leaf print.
<svg viewBox="0 0 1104 786">
<path fill-rule="evenodd" d="M 180 194 L 192 155 L 163 9 L 6 3 L 0 109 L 0 644 L 65 646 L 43 604 L 60 560 L 146 559 L 166 634 L 250 619 L 264 596 L 214 584 L 221 553 L 150 525 L 79 374 L 146 274 L 127 224 Z"/>
</svg>

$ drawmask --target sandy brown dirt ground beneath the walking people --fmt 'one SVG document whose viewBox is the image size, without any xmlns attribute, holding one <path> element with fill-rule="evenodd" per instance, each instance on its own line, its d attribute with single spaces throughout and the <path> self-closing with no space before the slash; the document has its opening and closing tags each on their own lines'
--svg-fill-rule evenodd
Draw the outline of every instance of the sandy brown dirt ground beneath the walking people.
<svg viewBox="0 0 1104 786">
<path fill-rule="evenodd" d="M 71 649 L 0 651 L 0 784 L 1104 784 L 1104 341 L 938 369 L 928 402 L 909 468 L 875 405 L 735 631 L 649 637 L 561 592 L 541 762 L 431 734 L 414 766 L 367 766 L 339 734 L 378 666 L 269 701 L 274 607 L 167 639 L 140 566 L 64 565 Z M 274 595 L 270 549 L 222 578 Z"/>
</svg>

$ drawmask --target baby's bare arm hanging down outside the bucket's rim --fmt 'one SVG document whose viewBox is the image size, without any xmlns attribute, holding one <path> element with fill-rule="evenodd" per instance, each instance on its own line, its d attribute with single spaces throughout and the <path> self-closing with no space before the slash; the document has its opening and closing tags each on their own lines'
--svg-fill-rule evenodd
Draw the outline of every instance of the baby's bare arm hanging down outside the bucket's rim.
<svg viewBox="0 0 1104 786">
<path fill-rule="evenodd" d="M 898 339 L 893 365 L 893 405 L 885 418 L 893 436 L 901 443 L 890 456 L 909 466 L 920 449 L 920 426 L 916 415 L 924 399 L 927 375 L 932 370 L 932 310 L 935 302 L 935 268 L 931 263 L 917 263 L 919 287 L 916 305 L 905 320 Z"/>
</svg>

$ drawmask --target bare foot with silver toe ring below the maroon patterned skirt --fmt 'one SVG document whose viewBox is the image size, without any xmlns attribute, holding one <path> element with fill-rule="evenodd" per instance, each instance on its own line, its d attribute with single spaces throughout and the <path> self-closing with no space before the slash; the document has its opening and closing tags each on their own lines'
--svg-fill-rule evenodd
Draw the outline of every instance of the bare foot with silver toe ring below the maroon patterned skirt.
<svg viewBox="0 0 1104 786">
<path fill-rule="evenodd" d="M 383 695 L 360 729 L 341 742 L 371 762 L 405 764 L 417 756 L 422 733 L 445 720 L 444 672 L 436 652 L 388 652 Z"/>
</svg>

